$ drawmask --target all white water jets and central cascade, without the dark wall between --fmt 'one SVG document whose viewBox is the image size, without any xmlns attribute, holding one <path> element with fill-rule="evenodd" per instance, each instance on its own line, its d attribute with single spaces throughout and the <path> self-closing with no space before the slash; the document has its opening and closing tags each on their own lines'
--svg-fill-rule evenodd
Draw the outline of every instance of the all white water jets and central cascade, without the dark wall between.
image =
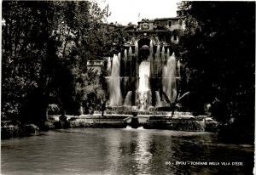
<svg viewBox="0 0 256 175">
<path fill-rule="evenodd" d="M 124 60 L 125 65 L 130 65 L 131 60 L 133 57 L 137 58 L 137 52 L 138 52 L 138 45 L 137 42 L 135 42 L 135 52 L 134 55 L 132 54 L 131 47 L 128 49 L 125 49 L 124 57 L 122 58 Z M 149 106 L 152 105 L 152 91 L 150 88 L 150 82 L 149 78 L 151 76 L 151 72 L 155 70 L 155 67 L 153 65 L 157 66 L 157 72 L 158 75 L 160 72 L 162 72 L 162 90 L 164 93 L 160 93 L 160 91 L 154 91 L 154 98 L 155 98 L 155 106 L 156 107 L 168 107 L 169 102 L 174 102 L 176 96 L 177 96 L 177 88 L 176 88 L 176 76 L 178 75 L 179 66 L 180 63 L 175 59 L 175 55 L 172 54 L 170 57 L 170 50 L 167 48 L 167 51 L 164 47 L 161 48 L 160 51 L 160 45 L 157 45 L 156 53 L 154 54 L 154 46 L 153 42 L 150 41 L 149 43 L 149 55 L 147 60 L 143 60 L 141 64 L 138 67 L 138 87 L 136 92 L 129 91 L 124 100 L 122 99 L 122 93 L 120 90 L 120 53 L 118 55 L 114 54 L 113 59 L 108 58 L 108 71 L 111 70 L 111 76 L 109 77 L 109 93 L 110 93 L 110 99 L 109 99 L 109 106 L 131 106 L 132 100 L 135 100 L 135 106 L 137 110 L 148 110 Z M 155 64 L 153 61 L 153 56 L 155 58 L 155 61 L 157 61 L 158 64 Z M 166 61 L 167 59 L 167 61 Z M 112 63 L 111 63 L 112 60 Z M 166 63 L 166 65 L 165 65 Z M 152 67 L 151 67 L 152 66 Z M 132 69 L 132 65 L 129 66 Z M 177 68 L 176 68 L 177 67 Z M 128 67 L 127 67 L 128 68 Z M 132 73 L 132 70 L 131 70 Z M 130 76 L 131 74 L 127 74 L 127 76 Z M 124 79 L 125 77 L 123 77 Z M 129 77 L 127 77 L 127 81 L 130 80 Z M 125 79 L 125 80 L 126 80 Z M 126 82 L 127 82 L 126 81 Z M 125 87 L 126 82 L 123 86 Z M 127 82 L 127 83 L 128 83 Z M 132 96 L 132 94 L 135 94 L 135 96 Z M 162 95 L 164 94 L 164 95 Z M 135 97 L 135 99 L 132 99 Z"/>
</svg>

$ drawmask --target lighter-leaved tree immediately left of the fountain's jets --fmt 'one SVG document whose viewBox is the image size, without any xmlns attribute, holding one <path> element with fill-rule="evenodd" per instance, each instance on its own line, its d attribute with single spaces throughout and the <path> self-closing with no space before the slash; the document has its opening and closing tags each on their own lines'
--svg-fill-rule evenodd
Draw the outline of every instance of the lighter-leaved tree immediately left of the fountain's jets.
<svg viewBox="0 0 256 175">
<path fill-rule="evenodd" d="M 61 3 L 62 4 L 62 3 Z M 108 6 L 101 10 L 96 3 L 90 2 L 65 2 L 68 14 L 64 18 L 64 25 L 61 25 L 63 31 L 68 31 L 67 35 L 61 35 L 61 47 L 59 56 L 67 62 L 67 70 L 72 75 L 73 89 L 69 96 L 73 97 L 76 107 L 84 106 L 86 109 L 99 110 L 99 99 L 101 103 L 106 103 L 107 86 L 106 79 L 103 76 L 104 69 L 100 76 L 97 72 L 87 70 L 87 61 L 102 59 L 102 56 L 113 55 L 113 42 L 123 45 L 122 35 L 119 27 L 105 24 Z M 63 5 L 63 4 L 62 4 Z M 70 10 L 68 10 L 70 9 Z M 64 15 L 65 16 L 65 15 Z M 119 36 L 119 37 L 118 37 Z M 121 49 L 121 48 L 117 48 Z M 71 89 L 71 88 L 70 88 Z M 64 95 L 59 95 L 64 97 Z M 65 95 L 67 96 L 67 95 Z M 65 101 L 63 108 L 70 106 L 71 99 Z M 67 110 L 67 109 L 66 109 Z M 74 112 L 74 111 L 71 111 Z M 85 111 L 86 113 L 87 111 Z"/>
</svg>

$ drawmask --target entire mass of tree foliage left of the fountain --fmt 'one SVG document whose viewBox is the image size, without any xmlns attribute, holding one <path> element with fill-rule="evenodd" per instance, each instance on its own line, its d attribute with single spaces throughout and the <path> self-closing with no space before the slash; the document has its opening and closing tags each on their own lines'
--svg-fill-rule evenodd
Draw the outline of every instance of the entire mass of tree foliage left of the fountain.
<svg viewBox="0 0 256 175">
<path fill-rule="evenodd" d="M 88 71 L 86 63 L 119 42 L 107 16 L 108 6 L 90 1 L 3 1 L 2 119 L 45 120 L 52 106 L 70 114 L 81 104 L 99 110 L 104 70 Z"/>
</svg>

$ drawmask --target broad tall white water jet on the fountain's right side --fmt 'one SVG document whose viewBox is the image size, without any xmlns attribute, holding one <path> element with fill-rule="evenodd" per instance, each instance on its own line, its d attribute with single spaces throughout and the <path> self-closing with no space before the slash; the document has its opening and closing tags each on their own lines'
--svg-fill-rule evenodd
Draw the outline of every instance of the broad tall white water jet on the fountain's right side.
<svg viewBox="0 0 256 175">
<path fill-rule="evenodd" d="M 166 96 L 169 98 L 170 102 L 174 102 L 177 95 L 176 58 L 174 53 L 163 67 L 162 85 L 163 91 L 166 93 Z"/>
</svg>

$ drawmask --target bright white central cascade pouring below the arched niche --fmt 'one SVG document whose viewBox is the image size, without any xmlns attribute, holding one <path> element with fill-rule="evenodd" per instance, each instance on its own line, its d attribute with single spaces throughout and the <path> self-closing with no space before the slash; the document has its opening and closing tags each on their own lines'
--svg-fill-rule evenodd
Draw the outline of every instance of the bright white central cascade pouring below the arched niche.
<svg viewBox="0 0 256 175">
<path fill-rule="evenodd" d="M 139 86 L 137 88 L 137 107 L 139 110 L 148 110 L 152 104 L 152 94 L 149 89 L 150 62 L 143 61 L 139 66 Z"/>
</svg>

